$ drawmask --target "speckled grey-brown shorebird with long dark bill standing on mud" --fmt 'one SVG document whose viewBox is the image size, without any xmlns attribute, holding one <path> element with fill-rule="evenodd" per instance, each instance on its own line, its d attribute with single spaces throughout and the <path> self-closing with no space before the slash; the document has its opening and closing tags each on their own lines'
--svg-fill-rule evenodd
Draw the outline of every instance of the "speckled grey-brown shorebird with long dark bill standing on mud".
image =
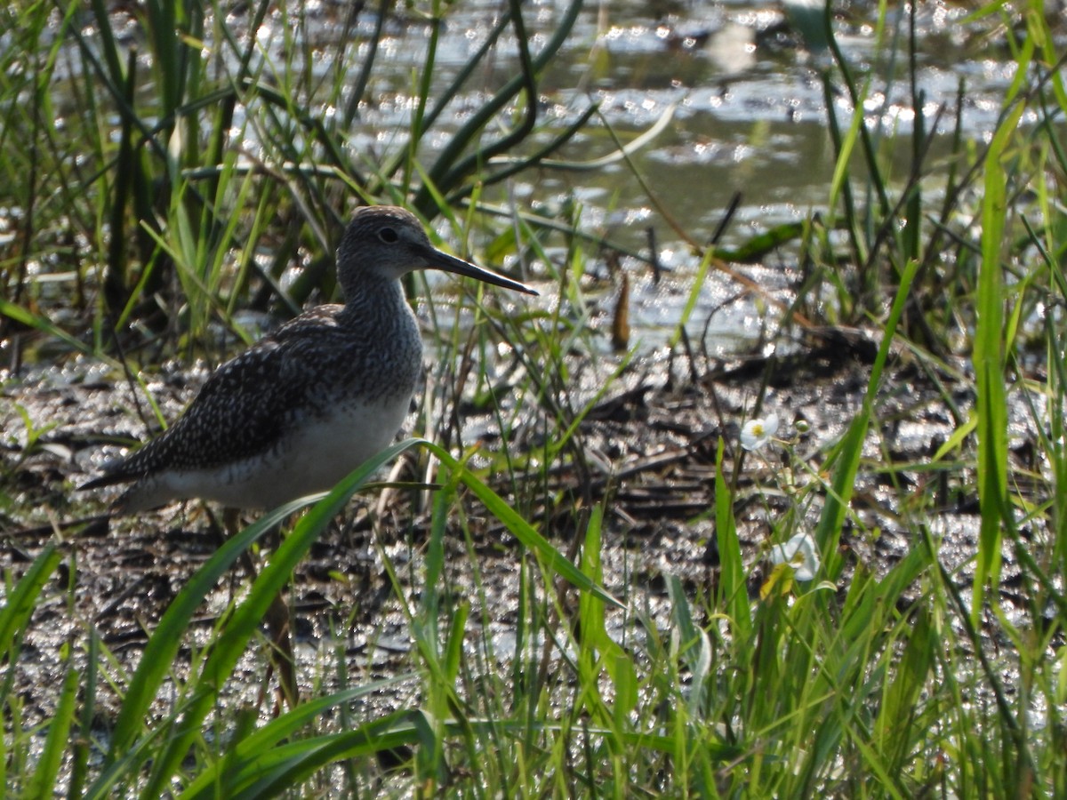
<svg viewBox="0 0 1067 800">
<path fill-rule="evenodd" d="M 361 208 L 337 249 L 345 304 L 304 311 L 223 364 L 162 435 L 81 489 L 131 483 L 115 503 L 125 513 L 188 498 L 273 508 L 332 489 L 408 415 L 423 341 L 400 278 L 424 269 L 537 294 L 434 249 L 402 208 Z"/>
</svg>

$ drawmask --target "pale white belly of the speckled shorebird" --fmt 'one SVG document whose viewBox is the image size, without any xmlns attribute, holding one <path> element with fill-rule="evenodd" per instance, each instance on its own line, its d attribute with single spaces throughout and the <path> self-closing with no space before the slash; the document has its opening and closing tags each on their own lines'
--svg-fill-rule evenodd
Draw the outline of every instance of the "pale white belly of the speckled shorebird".
<svg viewBox="0 0 1067 800">
<path fill-rule="evenodd" d="M 408 406 L 407 400 L 352 406 L 304 420 L 258 457 L 213 469 L 170 474 L 165 493 L 173 498 L 203 497 L 234 508 L 262 509 L 325 492 L 393 441 Z"/>
</svg>

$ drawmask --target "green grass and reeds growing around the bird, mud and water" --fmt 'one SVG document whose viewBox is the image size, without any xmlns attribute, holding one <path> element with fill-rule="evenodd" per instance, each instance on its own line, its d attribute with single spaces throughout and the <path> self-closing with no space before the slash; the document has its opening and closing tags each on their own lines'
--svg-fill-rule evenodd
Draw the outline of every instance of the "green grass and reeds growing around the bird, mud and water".
<svg viewBox="0 0 1067 800">
<path fill-rule="evenodd" d="M 378 463 L 418 444 L 434 457 L 423 476 L 441 485 L 411 567 L 420 591 L 403 591 L 397 565 L 379 554 L 413 643 L 407 671 L 348 685 L 340 647 L 304 702 L 276 716 L 268 701 L 235 700 L 235 671 L 256 651 L 271 597 L 377 464 L 300 516 L 197 637 L 205 597 L 293 509 L 229 539 L 146 622 L 150 638 L 127 671 L 76 612 L 79 528 L 60 532 L 57 522 L 55 535 L 32 545 L 15 535 L 41 511 L 20 471 L 55 443 L 50 420 L 5 414 L 22 426 L 4 431 L 0 454 L 0 521 L 18 556 L 0 607 L 9 795 L 1067 795 L 1062 20 L 1057 30 L 1037 0 L 976 6 L 966 18 L 977 41 L 1004 48 L 1014 78 L 988 141 L 970 141 L 957 118 L 951 158 L 937 161 L 934 131 L 953 105 L 928 118 L 913 16 L 871 10 L 878 66 L 895 69 L 849 63 L 832 35 L 840 20 L 824 29 L 837 158 L 826 205 L 739 250 L 694 242 L 692 298 L 710 271 L 732 270 L 723 256 L 787 245 L 794 299 L 763 306 L 780 336 L 861 326 L 875 342 L 870 368 L 841 436 L 808 448 L 803 426 L 793 426 L 743 457 L 736 429 L 719 431 L 714 505 L 691 519 L 714 523 L 716 563 L 704 583 L 665 572 L 667 610 L 653 613 L 604 563 L 618 535 L 618 482 L 591 479 L 596 454 L 583 432 L 630 361 L 591 399 L 572 385 L 576 361 L 602 357 L 579 279 L 602 242 L 576 224 L 574 207 L 545 214 L 501 202 L 510 178 L 547 169 L 598 119 L 593 106 L 562 125 L 544 118 L 539 81 L 583 9 L 575 0 L 550 11 L 553 33 L 535 42 L 531 9 L 500 6 L 482 45 L 450 69 L 434 59 L 452 9 L 435 2 L 0 11 L 0 339 L 11 396 L 27 391 L 29 368 L 91 361 L 128 378 L 152 407 L 146 377 L 165 359 L 218 362 L 254 339 L 264 317 L 252 311 L 286 316 L 331 297 L 332 254 L 357 203 L 443 217 L 453 242 L 478 233 L 481 260 L 532 270 L 548 298 L 506 314 L 458 295 L 445 304 L 462 324 L 431 317 L 439 356 L 420 430 L 458 444 L 458 434 L 434 435 L 447 399 L 489 410 L 501 437 L 478 453 L 409 442 L 382 455 Z M 383 31 L 416 21 L 428 31 L 425 63 L 381 77 Z M 286 36 L 281 62 L 259 46 L 266 23 Z M 327 45 L 310 44 L 317 26 L 335 31 Z M 501 51 L 513 74 L 442 133 L 465 82 Z M 389 81 L 413 98 L 405 127 L 367 146 L 352 137 L 361 103 Z M 907 87 L 914 114 L 903 179 L 891 167 L 901 140 L 864 115 L 890 82 Z M 838 97 L 855 111 L 842 114 Z M 760 298 L 759 288 L 746 291 Z M 426 297 L 425 284 L 411 289 Z M 692 305 L 672 337 L 679 351 Z M 494 371 L 500 354 L 520 378 Z M 779 367 L 771 359 L 757 375 L 758 396 Z M 888 444 L 902 421 L 889 400 L 908 390 L 903 381 L 935 387 L 929 402 L 952 429 L 906 459 Z M 558 491 L 561 473 L 578 476 L 578 489 Z M 881 533 L 858 502 L 865 482 L 889 487 L 907 533 L 888 563 L 857 556 Z M 69 502 L 57 508 L 83 513 Z M 752 503 L 765 512 L 768 543 L 812 538 L 814 580 L 790 564 L 753 570 L 765 554 L 746 547 L 740 527 Z M 974 547 L 954 561 L 941 522 L 960 508 L 973 512 Z M 471 597 L 448 578 L 448 540 L 476 564 L 487 514 L 507 532 L 515 565 L 508 653 L 493 644 L 493 593 L 480 573 Z M 27 697 L 25 645 L 57 603 L 77 633 L 49 654 L 58 679 Z M 268 662 L 260 653 L 260 677 Z M 401 695 L 410 702 L 364 714 L 361 699 L 399 685 L 414 687 Z M 47 709 L 39 724 L 25 722 L 31 704 Z"/>
</svg>

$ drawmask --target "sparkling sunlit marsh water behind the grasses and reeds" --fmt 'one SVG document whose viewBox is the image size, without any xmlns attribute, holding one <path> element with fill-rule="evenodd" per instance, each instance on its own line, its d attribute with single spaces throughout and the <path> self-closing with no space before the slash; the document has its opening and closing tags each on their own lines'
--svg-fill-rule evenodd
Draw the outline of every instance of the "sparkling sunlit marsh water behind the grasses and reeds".
<svg viewBox="0 0 1067 800">
<path fill-rule="evenodd" d="M 532 52 L 570 7 L 563 0 L 523 6 Z M 445 11 L 437 26 L 414 6 L 389 15 L 365 99 L 345 133 L 356 163 L 361 154 L 403 146 L 419 109 L 416 87 L 431 47 L 432 102 L 506 10 L 500 0 L 460 2 Z M 588 324 L 604 333 L 605 351 L 610 349 L 607 330 L 618 292 L 605 256 L 612 249 L 632 254 L 619 262 L 628 275 L 631 343 L 640 352 L 651 352 L 671 336 L 694 290 L 698 304 L 687 331 L 708 352 L 745 350 L 763 333 L 765 321 L 744 287 L 714 269 L 702 286 L 694 286 L 700 257 L 692 245 L 707 243 L 735 196 L 739 205 L 718 242 L 727 249 L 813 213 L 826 219 L 835 166 L 828 121 L 832 116 L 847 129 L 855 112 L 841 70 L 818 35 L 819 11 L 821 3 L 805 0 L 623 0 L 583 6 L 563 49 L 541 77 L 538 128 L 525 149 L 548 142 L 591 108 L 595 113 L 541 169 L 521 172 L 487 189 L 479 199 L 501 214 L 519 209 L 546 219 L 562 215 L 602 243 L 600 250 L 590 247 L 586 272 L 593 279 L 586 291 Z M 891 189 L 912 170 L 912 130 L 919 125 L 933 133 L 924 161 L 927 202 L 954 162 L 955 138 L 988 141 L 1015 78 L 1015 62 L 996 26 L 959 23 L 972 11 L 971 3 L 941 1 L 919 3 L 912 14 L 910 5 L 901 3 L 879 19 L 876 2 L 834 6 L 835 41 L 864 92 L 863 125 Z M 225 19 L 235 35 L 250 35 L 248 13 L 237 7 Z M 1054 10 L 1049 13 L 1055 15 Z M 115 14 L 123 46 L 136 50 L 145 32 L 125 12 Z M 355 81 L 370 55 L 379 20 L 369 5 L 352 18 L 348 14 L 347 4 L 332 2 L 304 4 L 299 16 L 276 9 L 269 13 L 254 34 L 265 81 L 285 80 L 274 71 L 276 65 L 292 63 L 291 51 L 305 45 L 310 57 L 304 66 L 323 86 L 338 70 L 347 70 L 341 82 Z M 1054 30 L 1067 42 L 1062 19 Z M 92 42 L 91 26 L 86 33 Z M 329 57 L 341 35 L 352 44 L 347 61 L 338 64 Z M 73 55 L 76 48 L 70 48 Z M 205 44 L 206 54 L 226 52 L 218 43 Z M 320 53 L 323 58 L 316 58 Z M 225 58 L 211 68 L 224 75 L 230 68 Z M 445 107 L 431 134 L 418 143 L 421 163 L 431 163 L 473 111 L 515 75 L 517 59 L 509 29 Z M 77 63 L 70 58 L 68 69 Z M 316 109 L 325 119 L 341 111 L 325 102 Z M 236 113 L 234 131 L 245 132 L 232 147 L 255 158 L 255 126 L 238 127 L 240 106 Z M 1028 112 L 1021 124 L 1037 122 Z M 625 157 L 620 145 L 632 147 Z M 862 159 L 855 156 L 850 169 L 863 202 L 869 190 Z M 475 250 L 483 243 L 474 242 Z M 562 258 L 564 238 L 548 237 L 545 250 L 550 257 Z M 652 260 L 655 272 L 648 269 Z M 736 269 L 766 292 L 787 299 L 799 277 L 795 240 Z M 294 274 L 296 268 L 288 278 Z M 55 291 L 67 291 L 65 277 L 54 282 Z"/>
</svg>

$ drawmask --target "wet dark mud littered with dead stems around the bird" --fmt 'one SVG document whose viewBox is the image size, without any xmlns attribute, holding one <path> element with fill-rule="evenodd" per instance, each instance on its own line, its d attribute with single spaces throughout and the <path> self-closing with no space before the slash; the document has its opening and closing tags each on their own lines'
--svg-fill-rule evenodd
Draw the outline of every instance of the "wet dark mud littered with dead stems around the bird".
<svg viewBox="0 0 1067 800">
<path fill-rule="evenodd" d="M 823 341 L 812 336 L 806 348 L 784 357 L 712 362 L 675 356 L 671 365 L 669 354 L 659 352 L 636 359 L 580 422 L 575 441 L 583 457 L 570 459 L 567 467 L 546 476 L 543 496 L 554 501 L 527 509 L 527 518 L 568 551 L 578 533 L 573 521 L 583 518 L 575 509 L 602 503 L 606 588 L 666 628 L 668 576 L 679 577 L 695 599 L 705 596 L 716 579 L 712 512 L 719 438 L 726 445 L 724 467 L 732 475 L 740 452 L 739 422 L 765 386 L 763 407 L 782 416 L 781 435 L 791 442 L 794 453 L 817 469 L 826 448 L 860 407 L 876 349 L 876 340 L 861 332 L 828 331 Z M 596 369 L 591 364 L 586 368 Z M 175 368 L 149 388 L 163 413 L 173 418 L 205 374 L 205 370 Z M 867 446 L 889 448 L 898 462 L 928 460 L 954 428 L 936 385 L 938 380 L 950 379 L 917 368 L 906 354 L 893 359 L 877 401 L 881 429 L 872 432 Z M 966 388 L 955 397 L 966 410 Z M 109 518 L 106 493 L 74 492 L 100 459 L 117 452 L 114 443 L 138 435 L 140 425 L 132 412 L 137 403 L 124 382 L 108 381 L 93 369 L 84 370 L 80 379 L 77 370 L 68 369 L 65 374 L 53 370 L 34 380 L 9 379 L 4 399 L 9 437 L 2 459 L 15 487 L 16 505 L 3 512 L 2 541 L 12 573 L 17 577 L 53 538 L 62 541 L 66 555 L 64 567 L 46 590 L 48 598 L 30 624 L 16 666 L 16 683 L 28 715 L 22 723 L 30 725 L 48 718 L 52 692 L 60 684 L 61 676 L 52 672 L 59 669 L 61 646 L 69 643 L 82 650 L 90 631 L 95 631 L 118 665 L 131 670 L 154 623 L 224 534 L 219 510 L 200 502 Z M 27 439 L 19 446 L 10 433 L 22 426 L 18 409 L 25 410 L 36 428 L 47 428 L 29 451 Z M 445 432 L 453 443 L 464 438 L 464 431 L 478 431 L 482 446 L 493 446 L 493 436 L 484 433 L 492 429 L 492 419 L 479 418 L 471 407 L 450 416 L 461 420 L 458 428 Z M 797 433 L 797 420 L 803 420 L 806 433 Z M 526 428 L 511 431 L 509 445 L 523 447 L 524 438 L 532 441 L 537 435 L 531 418 Z M 469 433 L 465 438 L 469 444 Z M 1025 451 L 1022 437 L 1015 452 Z M 877 452 L 872 450 L 872 454 Z M 774 516 L 789 513 L 793 503 L 774 480 L 774 474 L 786 469 L 787 463 L 784 447 L 777 446 L 747 454 L 737 471 L 735 513 L 753 596 L 765 573 Z M 409 459 L 389 477 L 420 480 L 423 475 Z M 929 480 L 921 473 L 902 475 L 915 483 Z M 489 480 L 494 483 L 492 477 Z M 507 496 L 506 477 L 495 483 L 497 492 Z M 848 569 L 841 591 L 857 565 L 885 574 L 907 553 L 913 532 L 901 527 L 894 509 L 907 501 L 908 492 L 908 485 L 893 485 L 861 467 L 853 509 L 865 529 L 877 535 L 856 531 L 842 538 Z M 939 537 L 940 559 L 950 571 L 964 565 L 956 580 L 966 591 L 971 579 L 966 564 L 976 549 L 974 485 L 947 479 L 938 496 L 943 506 L 930 515 L 930 525 Z M 350 662 L 352 683 L 403 672 L 410 647 L 408 623 L 383 559 L 388 559 L 405 596 L 417 597 L 423 579 L 420 548 L 428 535 L 420 497 L 420 493 L 400 490 L 361 495 L 301 564 L 292 582 L 291 606 L 298 660 L 305 660 L 300 670 L 304 679 L 319 672 L 309 663 L 338 647 Z M 463 506 L 467 533 L 457 526 L 446 544 L 451 550 L 447 554 L 449 592 L 473 604 L 473 619 L 488 614 L 497 645 L 506 651 L 517 608 L 521 548 L 472 498 Z M 821 502 L 812 502 L 801 510 L 812 526 L 819 508 Z M 74 519 L 89 522 L 69 525 Z M 268 550 L 269 546 L 259 556 L 266 557 Z M 1005 557 L 1004 594 L 1010 601 L 1014 564 L 1010 553 Z M 246 577 L 238 569 L 217 588 L 194 639 L 210 633 L 227 603 L 243 591 Z M 633 624 L 633 619 L 617 614 L 610 624 Z M 253 702 L 260 688 L 255 675 L 256 661 L 262 657 L 262 653 L 246 654 L 250 684 L 233 687 L 244 702 Z M 181 666 L 175 669 L 180 672 Z M 304 686 L 305 691 L 310 688 Z M 114 698 L 99 701 L 107 716 L 105 709 L 113 709 Z"/>
</svg>

